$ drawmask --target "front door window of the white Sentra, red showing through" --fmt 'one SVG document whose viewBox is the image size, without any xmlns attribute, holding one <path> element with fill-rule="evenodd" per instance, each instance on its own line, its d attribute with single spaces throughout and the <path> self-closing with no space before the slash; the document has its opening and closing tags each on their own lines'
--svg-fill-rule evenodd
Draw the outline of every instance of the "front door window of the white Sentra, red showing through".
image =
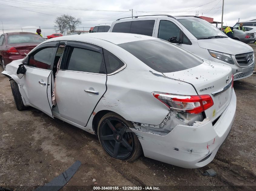
<svg viewBox="0 0 256 191">
<path fill-rule="evenodd" d="M 48 47 L 32 53 L 29 57 L 28 66 L 51 70 L 57 47 Z"/>
</svg>

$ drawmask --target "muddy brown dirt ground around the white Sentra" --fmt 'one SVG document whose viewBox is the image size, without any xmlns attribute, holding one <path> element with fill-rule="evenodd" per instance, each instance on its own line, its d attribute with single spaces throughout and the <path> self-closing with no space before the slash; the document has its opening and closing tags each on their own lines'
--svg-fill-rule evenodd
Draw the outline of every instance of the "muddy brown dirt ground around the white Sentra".
<svg viewBox="0 0 256 191">
<path fill-rule="evenodd" d="M 256 52 L 256 45 L 251 46 Z M 18 111 L 9 79 L 0 75 L 0 187 L 33 190 L 80 160 L 81 167 L 61 190 L 93 190 L 93 186 L 256 190 L 256 74 L 235 81 L 234 89 L 236 118 L 226 142 L 206 167 L 184 169 L 144 156 L 133 163 L 115 160 L 95 135 L 32 107 Z M 210 168 L 217 176 L 202 175 Z"/>
</svg>

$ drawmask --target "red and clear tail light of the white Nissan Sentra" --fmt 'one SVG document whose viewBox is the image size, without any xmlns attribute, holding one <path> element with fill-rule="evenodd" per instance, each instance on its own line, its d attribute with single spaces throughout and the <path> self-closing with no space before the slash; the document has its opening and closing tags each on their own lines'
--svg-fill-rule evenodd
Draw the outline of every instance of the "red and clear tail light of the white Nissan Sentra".
<svg viewBox="0 0 256 191">
<path fill-rule="evenodd" d="M 153 92 L 153 96 L 167 107 L 187 113 L 201 113 L 213 106 L 213 100 L 210 95 L 187 96 Z"/>
</svg>

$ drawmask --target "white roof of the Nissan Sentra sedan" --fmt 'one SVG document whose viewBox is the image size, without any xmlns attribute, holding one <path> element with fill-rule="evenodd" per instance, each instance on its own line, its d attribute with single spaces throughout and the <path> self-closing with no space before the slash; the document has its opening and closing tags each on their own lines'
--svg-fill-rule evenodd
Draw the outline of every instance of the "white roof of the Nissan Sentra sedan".
<svg viewBox="0 0 256 191">
<path fill-rule="evenodd" d="M 155 37 L 133 34 L 133 33 L 85 33 L 80 35 L 67 35 L 58 37 L 58 40 L 75 40 L 75 41 L 83 41 L 88 42 L 90 38 L 105 40 L 113 44 L 122 44 L 139 40 L 151 40 L 157 39 Z M 54 41 L 55 38 L 52 38 L 49 41 Z"/>
</svg>

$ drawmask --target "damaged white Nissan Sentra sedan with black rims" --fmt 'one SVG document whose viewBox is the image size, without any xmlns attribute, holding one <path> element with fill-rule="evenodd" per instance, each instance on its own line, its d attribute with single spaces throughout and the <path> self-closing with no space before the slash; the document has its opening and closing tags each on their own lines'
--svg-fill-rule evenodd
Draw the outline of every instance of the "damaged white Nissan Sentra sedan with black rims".
<svg viewBox="0 0 256 191">
<path fill-rule="evenodd" d="M 155 37 L 90 33 L 46 40 L 6 66 L 18 110 L 32 106 L 98 135 L 124 161 L 210 163 L 236 110 L 231 68 Z"/>
</svg>

